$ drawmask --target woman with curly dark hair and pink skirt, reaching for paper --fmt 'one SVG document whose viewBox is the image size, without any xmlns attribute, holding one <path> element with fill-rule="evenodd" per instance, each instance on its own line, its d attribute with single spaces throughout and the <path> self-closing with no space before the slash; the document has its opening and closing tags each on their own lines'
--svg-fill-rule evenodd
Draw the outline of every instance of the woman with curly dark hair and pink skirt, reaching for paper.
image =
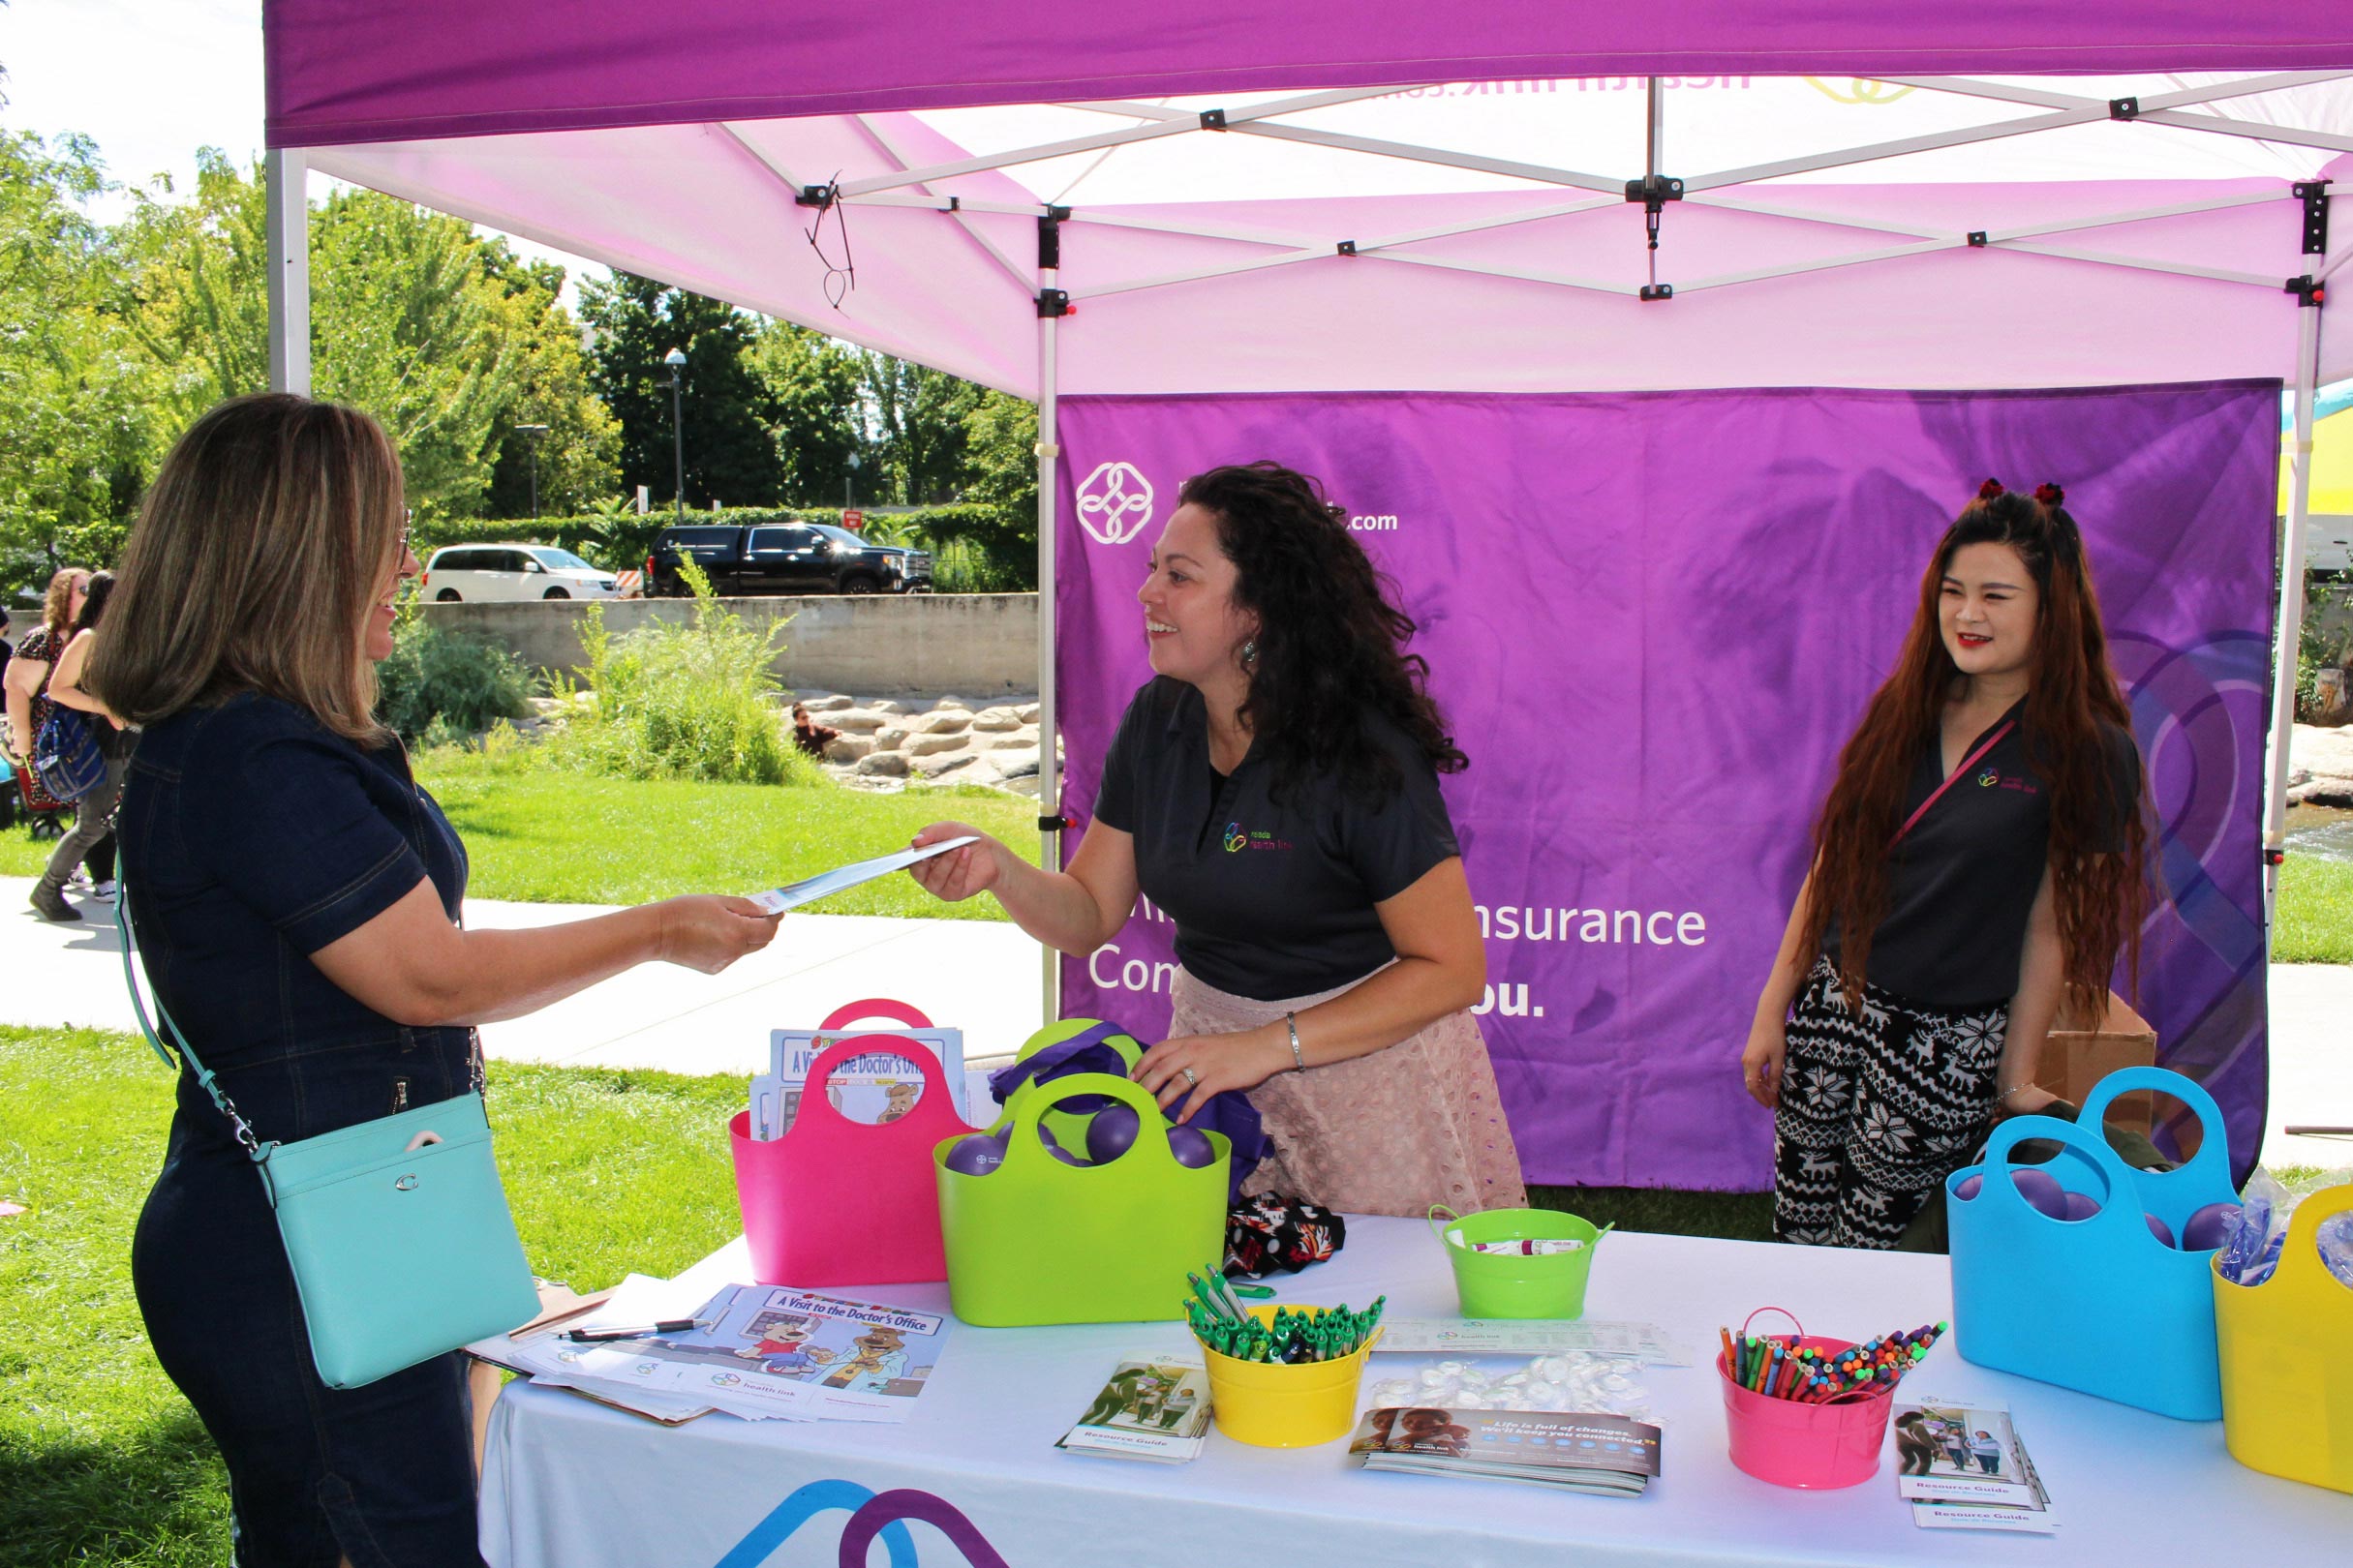
<svg viewBox="0 0 2353 1568">
<path fill-rule="evenodd" d="M 1249 1091 L 1275 1152 L 1247 1192 L 1393 1215 L 1525 1204 L 1438 792 L 1466 759 L 1346 510 L 1275 463 L 1212 468 L 1186 480 L 1136 599 L 1155 679 L 1071 870 L 984 839 L 915 879 L 951 900 L 986 889 L 1068 954 L 1111 940 L 1139 891 L 1165 910 L 1176 1006 L 1134 1077 L 1179 1119 Z"/>
</svg>

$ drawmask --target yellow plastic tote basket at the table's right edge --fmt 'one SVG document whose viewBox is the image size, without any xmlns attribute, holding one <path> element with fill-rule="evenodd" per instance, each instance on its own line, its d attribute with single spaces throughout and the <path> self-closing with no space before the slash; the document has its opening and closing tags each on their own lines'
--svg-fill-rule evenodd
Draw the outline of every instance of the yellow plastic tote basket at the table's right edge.
<svg viewBox="0 0 2353 1568">
<path fill-rule="evenodd" d="M 2231 1458 L 2339 1493 L 2353 1493 L 2353 1288 L 2320 1262 L 2320 1222 L 2348 1208 L 2353 1185 L 2297 1204 L 2280 1267 L 2259 1286 L 2214 1274 Z"/>
</svg>

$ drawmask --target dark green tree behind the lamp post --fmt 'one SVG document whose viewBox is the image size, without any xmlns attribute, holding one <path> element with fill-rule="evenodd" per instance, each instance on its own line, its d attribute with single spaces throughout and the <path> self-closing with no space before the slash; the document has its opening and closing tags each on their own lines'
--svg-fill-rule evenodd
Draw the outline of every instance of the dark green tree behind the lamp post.
<svg viewBox="0 0 2353 1568">
<path fill-rule="evenodd" d="M 614 273 L 581 282 L 581 317 L 595 331 L 588 386 L 621 423 L 621 484 L 675 494 L 671 371 L 664 355 L 685 350 L 682 425 L 687 508 L 776 505 L 784 465 L 776 409 L 753 364 L 755 317 L 729 303 Z"/>
</svg>

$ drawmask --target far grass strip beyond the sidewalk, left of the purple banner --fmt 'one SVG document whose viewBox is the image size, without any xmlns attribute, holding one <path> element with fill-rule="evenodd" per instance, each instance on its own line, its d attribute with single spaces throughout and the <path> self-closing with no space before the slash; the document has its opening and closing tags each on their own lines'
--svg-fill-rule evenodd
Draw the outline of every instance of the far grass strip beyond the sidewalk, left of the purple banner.
<svg viewBox="0 0 2353 1568">
<path fill-rule="evenodd" d="M 974 785 L 875 795 L 842 785 L 640 783 L 501 769 L 464 752 L 428 752 L 416 771 L 466 839 L 475 898 L 645 903 L 755 893 L 906 849 L 939 820 L 972 823 L 1033 856 L 1042 844 L 1035 802 Z M 24 827 L 5 832 L 0 875 L 38 877 L 47 851 Z M 880 877 L 812 912 L 1005 919 L 995 898 L 939 903 L 911 877 Z"/>
</svg>

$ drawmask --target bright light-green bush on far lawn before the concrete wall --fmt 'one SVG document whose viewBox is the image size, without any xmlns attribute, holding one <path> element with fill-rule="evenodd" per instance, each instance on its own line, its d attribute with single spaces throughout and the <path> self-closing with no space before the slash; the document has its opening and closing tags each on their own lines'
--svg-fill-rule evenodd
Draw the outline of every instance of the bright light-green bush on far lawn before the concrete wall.
<svg viewBox="0 0 2353 1568">
<path fill-rule="evenodd" d="M 614 637 L 600 604 L 588 604 L 581 649 L 593 703 L 546 741 L 541 757 L 621 778 L 711 783 L 826 783 L 786 738 L 774 658 L 784 623 L 755 632 L 711 595 L 694 562 L 685 567 L 694 618 Z"/>
</svg>

